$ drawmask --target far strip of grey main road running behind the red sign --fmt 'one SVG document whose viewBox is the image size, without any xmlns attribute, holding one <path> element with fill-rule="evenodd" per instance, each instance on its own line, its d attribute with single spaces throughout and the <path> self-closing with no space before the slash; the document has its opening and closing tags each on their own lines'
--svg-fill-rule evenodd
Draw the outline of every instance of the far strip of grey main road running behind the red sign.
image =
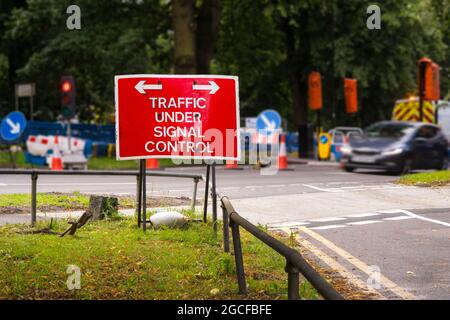
<svg viewBox="0 0 450 320">
<path fill-rule="evenodd" d="M 323 192 L 333 188 L 367 189 L 389 188 L 397 177 L 377 172 L 347 173 L 336 167 L 292 165 L 292 171 L 276 175 L 261 175 L 249 167 L 243 170 L 225 170 L 218 167 L 217 188 L 232 199 L 266 197 Z M 166 171 L 205 173 L 204 168 L 173 168 Z M 204 188 L 204 183 L 199 183 Z M 147 191 L 151 195 L 192 196 L 191 179 L 149 177 Z M 74 192 L 134 195 L 136 179 L 120 176 L 39 176 L 38 192 Z M 0 175 L 0 193 L 30 192 L 30 176 Z M 199 193 L 203 195 L 202 192 Z"/>
</svg>

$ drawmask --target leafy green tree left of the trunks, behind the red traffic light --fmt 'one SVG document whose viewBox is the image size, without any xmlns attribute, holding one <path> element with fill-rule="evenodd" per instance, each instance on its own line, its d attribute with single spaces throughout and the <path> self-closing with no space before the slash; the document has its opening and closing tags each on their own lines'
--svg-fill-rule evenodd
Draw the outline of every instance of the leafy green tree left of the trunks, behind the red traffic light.
<svg viewBox="0 0 450 320">
<path fill-rule="evenodd" d="M 68 30 L 70 4 L 28 0 L 10 15 L 4 42 L 17 44 L 26 56 L 14 71 L 17 81 L 36 82 L 38 119 L 56 118 L 60 77 L 73 75 L 81 118 L 105 121 L 114 110 L 114 75 L 170 71 L 169 6 L 159 0 L 80 0 L 81 30 Z"/>
</svg>

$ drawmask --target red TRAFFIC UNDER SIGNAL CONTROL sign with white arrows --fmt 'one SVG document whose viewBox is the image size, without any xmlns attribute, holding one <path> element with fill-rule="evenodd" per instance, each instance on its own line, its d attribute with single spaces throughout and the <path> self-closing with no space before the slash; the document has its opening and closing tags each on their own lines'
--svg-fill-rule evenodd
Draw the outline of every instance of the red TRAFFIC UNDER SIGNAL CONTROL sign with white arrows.
<svg viewBox="0 0 450 320">
<path fill-rule="evenodd" d="M 238 77 L 115 77 L 116 158 L 239 160 Z"/>
</svg>

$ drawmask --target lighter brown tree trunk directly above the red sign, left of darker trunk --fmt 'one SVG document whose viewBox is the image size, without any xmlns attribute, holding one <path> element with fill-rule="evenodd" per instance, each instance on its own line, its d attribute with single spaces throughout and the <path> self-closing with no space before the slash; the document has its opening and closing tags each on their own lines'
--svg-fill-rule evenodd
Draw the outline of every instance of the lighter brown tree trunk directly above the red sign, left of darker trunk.
<svg viewBox="0 0 450 320">
<path fill-rule="evenodd" d="M 195 73 L 194 0 L 172 1 L 172 28 L 175 34 L 175 73 Z"/>
</svg>

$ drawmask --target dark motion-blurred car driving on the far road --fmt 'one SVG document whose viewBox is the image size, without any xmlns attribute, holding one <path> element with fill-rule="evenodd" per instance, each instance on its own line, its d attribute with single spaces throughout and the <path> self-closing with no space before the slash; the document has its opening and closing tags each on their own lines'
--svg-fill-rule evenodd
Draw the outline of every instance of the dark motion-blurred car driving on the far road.
<svg viewBox="0 0 450 320">
<path fill-rule="evenodd" d="M 422 122 L 381 121 L 341 147 L 341 166 L 406 174 L 414 169 L 448 168 L 448 141 L 442 130 Z"/>
</svg>

